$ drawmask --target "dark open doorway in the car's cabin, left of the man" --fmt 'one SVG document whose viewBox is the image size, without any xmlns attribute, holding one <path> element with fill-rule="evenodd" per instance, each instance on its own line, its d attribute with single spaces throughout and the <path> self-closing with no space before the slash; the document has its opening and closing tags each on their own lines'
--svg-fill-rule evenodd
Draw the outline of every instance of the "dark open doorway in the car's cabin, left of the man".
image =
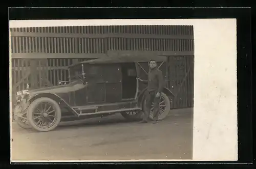
<svg viewBox="0 0 256 169">
<path fill-rule="evenodd" d="M 122 63 L 122 99 L 135 98 L 136 83 L 136 67 L 134 63 Z"/>
</svg>

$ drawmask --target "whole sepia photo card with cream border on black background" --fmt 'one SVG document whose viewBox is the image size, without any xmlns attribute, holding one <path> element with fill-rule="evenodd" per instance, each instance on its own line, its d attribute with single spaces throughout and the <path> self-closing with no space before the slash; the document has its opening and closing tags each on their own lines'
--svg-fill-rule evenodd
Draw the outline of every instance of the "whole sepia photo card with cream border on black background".
<svg viewBox="0 0 256 169">
<path fill-rule="evenodd" d="M 223 81 L 223 67 L 206 62 L 207 55 L 218 60 L 218 51 L 207 50 L 207 42 L 201 41 L 200 50 L 208 54 L 197 59 L 196 40 L 212 40 L 195 34 L 200 21 L 188 20 L 10 20 L 11 161 L 200 160 L 195 153 L 204 159 L 209 155 L 197 152 L 216 131 L 209 129 L 204 138 L 195 134 L 199 127 L 215 125 L 212 115 L 204 118 L 212 111 L 218 115 L 219 109 L 210 106 L 221 108 L 216 105 L 224 105 L 221 99 L 231 100 L 221 108 L 231 113 L 226 116 L 231 129 L 221 131 L 232 134 L 222 140 L 231 148 L 212 157 L 236 160 L 236 74 Z M 200 23 L 208 32 L 209 22 Z M 224 32 L 212 28 L 210 36 L 236 38 L 232 23 Z M 223 47 L 223 41 L 212 43 Z M 233 58 L 216 63 L 227 63 L 230 73 L 236 70 L 236 44 L 226 45 Z M 222 94 L 206 84 L 212 77 Z M 206 147 L 205 152 L 211 148 Z"/>
</svg>

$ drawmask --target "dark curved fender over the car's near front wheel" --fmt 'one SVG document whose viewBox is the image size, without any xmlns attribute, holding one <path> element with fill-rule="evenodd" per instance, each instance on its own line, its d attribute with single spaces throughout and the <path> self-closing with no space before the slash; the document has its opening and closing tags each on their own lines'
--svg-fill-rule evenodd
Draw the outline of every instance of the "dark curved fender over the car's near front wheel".
<svg viewBox="0 0 256 169">
<path fill-rule="evenodd" d="M 29 102 L 32 103 L 34 100 L 41 98 L 41 97 L 48 97 L 53 99 L 59 104 L 59 107 L 62 108 L 67 108 L 69 112 L 72 112 L 75 116 L 78 116 L 78 113 L 63 99 L 61 99 L 59 96 L 52 94 L 52 93 L 41 93 L 33 96 L 32 98 L 29 99 Z"/>
</svg>

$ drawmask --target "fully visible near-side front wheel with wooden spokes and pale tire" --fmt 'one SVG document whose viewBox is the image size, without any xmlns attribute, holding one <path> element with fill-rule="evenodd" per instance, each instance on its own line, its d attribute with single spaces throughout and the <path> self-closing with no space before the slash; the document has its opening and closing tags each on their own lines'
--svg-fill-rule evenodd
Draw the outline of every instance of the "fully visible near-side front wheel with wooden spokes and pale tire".
<svg viewBox="0 0 256 169">
<path fill-rule="evenodd" d="M 61 119 L 61 109 L 56 101 L 44 97 L 34 100 L 28 109 L 27 119 L 39 132 L 54 130 Z"/>
</svg>

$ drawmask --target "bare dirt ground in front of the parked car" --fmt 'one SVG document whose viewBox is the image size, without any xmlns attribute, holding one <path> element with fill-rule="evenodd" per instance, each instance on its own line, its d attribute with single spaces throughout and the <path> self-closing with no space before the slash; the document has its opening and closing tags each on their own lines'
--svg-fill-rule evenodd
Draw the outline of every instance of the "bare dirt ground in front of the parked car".
<svg viewBox="0 0 256 169">
<path fill-rule="evenodd" d="M 120 114 L 62 122 L 50 132 L 12 123 L 12 160 L 191 159 L 193 112 L 173 111 L 158 124 L 127 122 Z"/>
</svg>

